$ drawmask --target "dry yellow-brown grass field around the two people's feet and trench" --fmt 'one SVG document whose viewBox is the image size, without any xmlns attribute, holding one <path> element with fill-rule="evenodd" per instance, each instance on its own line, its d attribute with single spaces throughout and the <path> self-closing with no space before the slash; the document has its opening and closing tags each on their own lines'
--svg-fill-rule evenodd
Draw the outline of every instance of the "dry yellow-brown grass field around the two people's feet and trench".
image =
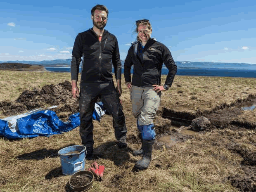
<svg viewBox="0 0 256 192">
<path fill-rule="evenodd" d="M 14 102 L 24 90 L 66 80 L 71 80 L 70 73 L 1 71 L 0 102 Z M 161 95 L 155 118 L 154 160 L 140 172 L 132 171 L 140 157 L 130 152 L 141 144 L 124 78 L 122 85 L 128 148 L 116 146 L 111 116 L 93 121 L 94 147 L 100 158 L 86 160 L 85 168 L 97 161 L 105 171 L 103 181 L 94 181 L 90 192 L 256 191 L 256 109 L 241 110 L 256 99 L 255 78 L 175 76 L 172 87 Z M 2 109 L 0 118 L 6 117 Z M 198 133 L 172 131 L 182 122 L 171 116 L 187 120 L 206 116 L 212 125 Z M 164 149 L 160 141 L 166 136 L 176 140 Z M 69 192 L 70 176 L 62 175 L 57 152 L 70 145 L 81 145 L 79 127 L 51 137 L 0 137 L 0 192 Z"/>
</svg>

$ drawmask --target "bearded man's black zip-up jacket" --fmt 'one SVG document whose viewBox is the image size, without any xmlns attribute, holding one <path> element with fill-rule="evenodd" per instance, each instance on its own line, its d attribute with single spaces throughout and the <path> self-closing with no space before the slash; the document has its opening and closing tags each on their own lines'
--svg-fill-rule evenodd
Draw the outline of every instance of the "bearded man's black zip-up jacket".
<svg viewBox="0 0 256 192">
<path fill-rule="evenodd" d="M 116 79 L 121 79 L 121 60 L 116 37 L 104 30 L 101 42 L 92 28 L 78 33 L 73 46 L 71 79 L 78 79 L 83 56 L 81 83 L 112 81 L 112 63 Z"/>
</svg>

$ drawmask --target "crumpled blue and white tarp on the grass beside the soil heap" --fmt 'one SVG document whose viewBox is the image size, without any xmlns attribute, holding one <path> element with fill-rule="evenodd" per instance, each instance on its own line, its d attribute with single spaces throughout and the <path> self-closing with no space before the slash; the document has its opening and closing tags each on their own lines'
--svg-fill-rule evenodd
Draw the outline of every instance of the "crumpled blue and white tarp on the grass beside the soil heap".
<svg viewBox="0 0 256 192">
<path fill-rule="evenodd" d="M 93 119 L 100 121 L 105 114 L 102 102 L 95 104 Z M 80 125 L 79 113 L 61 121 L 51 110 L 36 109 L 18 116 L 0 119 L 0 136 L 8 139 L 50 136 L 68 132 Z"/>
</svg>

